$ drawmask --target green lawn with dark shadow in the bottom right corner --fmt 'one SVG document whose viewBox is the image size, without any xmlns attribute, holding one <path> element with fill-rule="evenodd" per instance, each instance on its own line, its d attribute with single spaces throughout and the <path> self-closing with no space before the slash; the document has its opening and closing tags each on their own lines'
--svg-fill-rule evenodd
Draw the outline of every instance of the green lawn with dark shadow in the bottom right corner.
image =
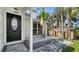
<svg viewBox="0 0 79 59">
<path fill-rule="evenodd" d="M 72 40 L 72 42 L 73 42 L 73 44 L 64 48 L 62 50 L 62 52 L 79 52 L 79 39 L 78 40 Z"/>
</svg>

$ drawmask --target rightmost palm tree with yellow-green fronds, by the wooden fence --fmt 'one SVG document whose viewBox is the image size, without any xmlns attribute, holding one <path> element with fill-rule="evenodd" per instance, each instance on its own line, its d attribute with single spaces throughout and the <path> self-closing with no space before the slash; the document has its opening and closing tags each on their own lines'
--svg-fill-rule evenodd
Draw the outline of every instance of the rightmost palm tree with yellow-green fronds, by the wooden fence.
<svg viewBox="0 0 79 59">
<path fill-rule="evenodd" d="M 70 40 L 71 34 L 70 34 L 70 26 L 71 26 L 71 20 L 74 18 L 77 13 L 78 13 L 79 8 L 73 8 L 73 7 L 66 7 L 66 17 L 67 17 L 67 22 L 68 22 L 68 39 Z"/>
</svg>

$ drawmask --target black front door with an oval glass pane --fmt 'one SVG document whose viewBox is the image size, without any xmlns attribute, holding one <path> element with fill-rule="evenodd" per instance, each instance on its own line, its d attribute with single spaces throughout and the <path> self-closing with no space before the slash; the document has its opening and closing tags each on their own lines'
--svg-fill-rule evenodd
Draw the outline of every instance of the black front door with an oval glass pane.
<svg viewBox="0 0 79 59">
<path fill-rule="evenodd" d="M 6 13 L 7 42 L 21 40 L 21 16 Z"/>
</svg>

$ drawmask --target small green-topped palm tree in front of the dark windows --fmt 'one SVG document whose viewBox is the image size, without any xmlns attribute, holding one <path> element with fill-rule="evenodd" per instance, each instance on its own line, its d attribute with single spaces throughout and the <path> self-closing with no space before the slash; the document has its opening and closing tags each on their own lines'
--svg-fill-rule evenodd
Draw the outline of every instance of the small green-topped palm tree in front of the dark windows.
<svg viewBox="0 0 79 59">
<path fill-rule="evenodd" d="M 38 10 L 40 11 L 39 14 L 38 14 L 38 19 L 40 21 L 40 25 L 42 27 L 42 35 L 43 37 L 45 36 L 45 29 L 44 29 L 44 24 L 45 24 L 45 21 L 47 20 L 47 17 L 48 17 L 48 13 L 46 13 L 44 11 L 44 8 L 42 9 L 39 9 Z"/>
</svg>

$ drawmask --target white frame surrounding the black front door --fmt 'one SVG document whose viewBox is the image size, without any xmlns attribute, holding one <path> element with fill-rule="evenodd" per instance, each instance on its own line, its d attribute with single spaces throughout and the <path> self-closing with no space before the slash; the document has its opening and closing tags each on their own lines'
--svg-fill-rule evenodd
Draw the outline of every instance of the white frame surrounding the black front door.
<svg viewBox="0 0 79 59">
<path fill-rule="evenodd" d="M 20 15 L 21 16 L 21 40 L 17 40 L 17 41 L 13 41 L 13 42 L 7 42 L 7 19 L 6 19 L 6 14 L 7 13 L 11 13 L 11 14 L 15 14 L 15 15 Z M 22 15 L 21 14 L 16 14 L 16 13 L 12 13 L 12 12 L 4 12 L 4 45 L 9 45 L 9 44 L 14 44 L 14 43 L 19 43 L 19 42 L 23 42 L 22 40 L 23 34 L 22 34 Z"/>
</svg>

